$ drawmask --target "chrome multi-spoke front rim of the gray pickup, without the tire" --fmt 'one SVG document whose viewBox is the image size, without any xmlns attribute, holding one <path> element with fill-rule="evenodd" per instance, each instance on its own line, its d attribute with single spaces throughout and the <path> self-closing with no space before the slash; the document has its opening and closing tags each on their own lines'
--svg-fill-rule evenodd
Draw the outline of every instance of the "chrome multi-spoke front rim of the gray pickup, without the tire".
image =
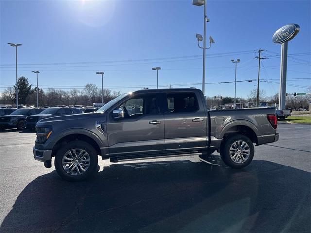
<svg viewBox="0 0 311 233">
<path fill-rule="evenodd" d="M 71 149 L 62 158 L 63 169 L 73 176 L 82 175 L 90 166 L 90 156 L 82 149 Z"/>
</svg>

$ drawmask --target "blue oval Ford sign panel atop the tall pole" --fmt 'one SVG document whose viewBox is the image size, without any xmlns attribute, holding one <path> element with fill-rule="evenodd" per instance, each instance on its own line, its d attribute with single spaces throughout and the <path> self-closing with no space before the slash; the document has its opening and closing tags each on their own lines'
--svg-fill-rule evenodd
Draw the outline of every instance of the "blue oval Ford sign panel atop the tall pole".
<svg viewBox="0 0 311 233">
<path fill-rule="evenodd" d="M 278 29 L 272 36 L 272 41 L 276 44 L 282 44 L 293 39 L 298 34 L 300 27 L 298 24 L 290 23 Z"/>
</svg>

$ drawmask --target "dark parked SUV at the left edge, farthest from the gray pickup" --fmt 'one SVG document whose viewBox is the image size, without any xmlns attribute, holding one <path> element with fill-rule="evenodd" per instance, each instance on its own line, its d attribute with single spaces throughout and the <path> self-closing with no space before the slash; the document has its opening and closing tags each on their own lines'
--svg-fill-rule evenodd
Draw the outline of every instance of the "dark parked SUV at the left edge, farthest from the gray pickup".
<svg viewBox="0 0 311 233">
<path fill-rule="evenodd" d="M 1 129 L 17 128 L 18 130 L 24 130 L 26 123 L 26 116 L 36 115 L 43 111 L 43 108 L 21 108 L 12 112 L 10 115 L 0 117 Z"/>
</svg>

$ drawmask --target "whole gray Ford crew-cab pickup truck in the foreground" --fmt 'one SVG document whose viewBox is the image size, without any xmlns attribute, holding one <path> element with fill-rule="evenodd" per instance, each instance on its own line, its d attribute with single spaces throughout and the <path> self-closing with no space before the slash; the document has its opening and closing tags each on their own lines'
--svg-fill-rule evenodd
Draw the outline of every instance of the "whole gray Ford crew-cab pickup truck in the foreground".
<svg viewBox="0 0 311 233">
<path fill-rule="evenodd" d="M 84 180 L 97 171 L 98 156 L 111 162 L 211 154 L 242 168 L 254 143 L 278 140 L 275 108 L 209 111 L 195 88 L 139 90 L 111 100 L 95 113 L 40 120 L 34 158 L 65 180 Z"/>
</svg>

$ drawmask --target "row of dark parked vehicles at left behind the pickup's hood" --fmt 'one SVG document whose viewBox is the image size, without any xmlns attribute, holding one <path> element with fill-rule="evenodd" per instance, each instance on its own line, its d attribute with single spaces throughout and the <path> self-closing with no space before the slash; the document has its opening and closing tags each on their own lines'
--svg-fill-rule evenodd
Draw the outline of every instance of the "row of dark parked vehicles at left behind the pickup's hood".
<svg viewBox="0 0 311 233">
<path fill-rule="evenodd" d="M 3 129 L 35 129 L 35 125 L 41 119 L 94 112 L 97 109 L 71 108 L 71 107 L 52 107 L 52 108 L 1 108 L 0 109 L 0 128 Z"/>
</svg>

